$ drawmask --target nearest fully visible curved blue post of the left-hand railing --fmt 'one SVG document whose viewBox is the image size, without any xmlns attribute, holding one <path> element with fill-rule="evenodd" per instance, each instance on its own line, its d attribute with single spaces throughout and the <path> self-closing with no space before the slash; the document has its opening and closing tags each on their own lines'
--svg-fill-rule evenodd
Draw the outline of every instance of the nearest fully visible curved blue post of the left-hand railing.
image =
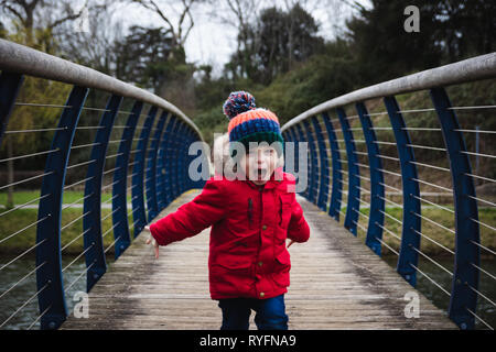
<svg viewBox="0 0 496 352">
<path fill-rule="evenodd" d="M 58 329 L 67 317 L 61 255 L 61 213 L 71 145 L 88 89 L 75 86 L 54 134 L 41 188 L 36 229 L 36 287 L 41 329 Z"/>
</svg>

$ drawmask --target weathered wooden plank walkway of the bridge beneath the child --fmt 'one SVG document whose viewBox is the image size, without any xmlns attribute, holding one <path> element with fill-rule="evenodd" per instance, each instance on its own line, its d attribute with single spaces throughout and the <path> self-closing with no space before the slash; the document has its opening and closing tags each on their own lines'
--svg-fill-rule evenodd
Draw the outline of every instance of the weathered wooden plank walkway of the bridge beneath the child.
<svg viewBox="0 0 496 352">
<path fill-rule="evenodd" d="M 160 218 L 201 190 L 177 198 Z M 290 329 L 456 329 L 445 312 L 420 297 L 420 317 L 406 318 L 413 288 L 334 219 L 298 196 L 310 241 L 290 248 L 285 296 Z M 209 298 L 209 229 L 161 248 L 157 261 L 143 233 L 109 266 L 89 294 L 89 318 L 73 315 L 62 329 L 217 330 L 222 315 Z M 250 329 L 256 329 L 251 315 Z"/>
</svg>

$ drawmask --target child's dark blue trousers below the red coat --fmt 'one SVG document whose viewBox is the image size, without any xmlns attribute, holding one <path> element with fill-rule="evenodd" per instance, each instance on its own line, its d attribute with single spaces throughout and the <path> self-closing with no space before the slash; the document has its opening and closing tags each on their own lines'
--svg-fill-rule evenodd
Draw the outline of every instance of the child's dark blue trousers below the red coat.
<svg viewBox="0 0 496 352">
<path fill-rule="evenodd" d="M 218 306 L 223 310 L 220 330 L 248 330 L 251 309 L 256 311 L 258 330 L 288 330 L 284 295 L 268 299 L 220 299 Z"/>
</svg>

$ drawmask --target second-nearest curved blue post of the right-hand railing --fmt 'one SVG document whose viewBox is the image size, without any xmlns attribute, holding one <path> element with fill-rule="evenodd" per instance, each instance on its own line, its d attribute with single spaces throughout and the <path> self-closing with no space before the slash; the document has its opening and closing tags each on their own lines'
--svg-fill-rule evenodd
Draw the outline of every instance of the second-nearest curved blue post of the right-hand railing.
<svg viewBox="0 0 496 352">
<path fill-rule="evenodd" d="M 403 190 L 403 219 L 401 230 L 401 245 L 398 255 L 397 272 L 412 285 L 417 284 L 417 265 L 420 249 L 420 188 L 417 166 L 410 134 L 395 97 L 384 98 L 392 132 L 395 133 L 398 156 L 401 166 L 401 184 Z M 413 265 L 413 266 L 412 266 Z"/>
</svg>

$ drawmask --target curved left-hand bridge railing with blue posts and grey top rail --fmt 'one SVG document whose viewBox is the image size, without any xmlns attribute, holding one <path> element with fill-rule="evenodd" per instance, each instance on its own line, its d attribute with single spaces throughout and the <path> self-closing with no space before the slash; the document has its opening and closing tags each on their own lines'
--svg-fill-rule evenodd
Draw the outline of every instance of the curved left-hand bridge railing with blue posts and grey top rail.
<svg viewBox="0 0 496 352">
<path fill-rule="evenodd" d="M 15 206 L 13 210 L 0 212 L 2 217 L 28 205 L 33 206 L 36 202 L 39 205 L 37 221 L 0 240 L 1 243 L 15 235 L 22 235 L 29 228 L 37 228 L 35 244 L 17 257 L 22 257 L 30 252 L 36 253 L 35 270 L 32 271 L 32 274 L 36 275 L 35 295 L 7 320 L 0 321 L 0 327 L 8 324 L 25 305 L 37 298 L 40 316 L 30 328 L 40 321 L 42 329 L 57 329 L 67 317 L 67 290 L 76 283 L 75 280 L 64 287 L 63 272 L 73 263 L 63 268 L 61 253 L 71 243 L 61 249 L 61 232 L 77 221 L 83 221 L 83 233 L 74 241 L 84 240 L 84 251 L 76 260 L 84 257 L 86 268 L 77 279 L 86 276 L 87 290 L 91 289 L 107 270 L 106 253 L 111 248 L 118 258 L 129 246 L 132 238 L 136 238 L 144 226 L 175 197 L 187 189 L 203 187 L 205 180 L 193 182 L 184 173 L 177 177 L 175 166 L 184 167 L 185 163 L 194 157 L 188 155 L 188 145 L 193 142 L 204 142 L 204 140 L 193 121 L 175 106 L 149 91 L 88 67 L 0 40 L 0 145 L 6 133 L 35 132 L 8 131 L 9 119 L 17 106 L 62 109 L 56 128 L 39 130 L 54 131 L 50 151 L 1 161 L 8 163 L 21 157 L 46 155 L 43 175 L 34 177 L 42 178 L 40 197 L 29 204 Z M 72 91 L 67 101 L 58 107 L 44 102 L 18 101 L 17 97 L 25 76 L 71 85 Z M 89 92 L 95 96 L 109 95 L 107 106 L 86 107 L 85 102 Z M 132 105 L 130 111 L 122 110 L 123 100 Z M 79 128 L 78 122 L 83 119 L 80 118 L 83 111 L 100 113 L 98 125 Z M 116 125 L 119 116 L 126 117 L 126 121 L 121 125 Z M 157 124 L 153 123 L 155 118 L 159 121 Z M 144 122 L 140 124 L 139 121 L 143 120 Z M 152 131 L 153 125 L 155 125 L 154 131 Z M 85 145 L 73 145 L 79 130 L 93 130 L 94 141 L 88 141 Z M 110 141 L 114 130 L 121 135 L 120 140 Z M 117 153 L 111 155 L 108 153 L 110 144 L 118 147 Z M 71 151 L 80 147 L 90 147 L 89 160 L 68 166 Z M 208 155 L 209 152 L 205 150 L 202 156 L 209 158 Z M 115 167 L 105 170 L 106 162 L 110 158 L 115 160 Z M 87 167 L 86 177 L 78 183 L 65 185 L 67 170 L 77 167 Z M 131 170 L 130 167 L 132 167 Z M 173 172 L 170 172 L 171 167 Z M 104 186 L 105 179 L 111 174 L 114 174 L 111 183 Z M 2 186 L 2 189 L 28 182 L 30 179 L 11 183 Z M 72 205 L 63 206 L 64 190 L 77 185 L 84 186 L 84 197 Z M 103 202 L 104 190 L 110 190 L 110 188 L 111 198 Z M 132 209 L 130 211 L 127 207 L 128 193 L 131 194 Z M 62 226 L 62 210 L 76 206 L 80 201 L 84 201 L 83 215 Z M 108 206 L 111 206 L 111 212 L 103 218 L 101 209 Z M 131 213 L 132 222 L 128 221 Z M 111 217 L 112 226 L 104 232 L 103 221 L 109 217 Z M 114 232 L 114 242 L 110 246 L 104 248 L 104 238 L 108 239 L 109 232 Z M 0 271 L 8 270 L 14 261 L 2 265 Z M 28 276 L 12 285 L 1 294 L 0 298 L 13 292 L 17 285 L 26 279 Z"/>
</svg>

